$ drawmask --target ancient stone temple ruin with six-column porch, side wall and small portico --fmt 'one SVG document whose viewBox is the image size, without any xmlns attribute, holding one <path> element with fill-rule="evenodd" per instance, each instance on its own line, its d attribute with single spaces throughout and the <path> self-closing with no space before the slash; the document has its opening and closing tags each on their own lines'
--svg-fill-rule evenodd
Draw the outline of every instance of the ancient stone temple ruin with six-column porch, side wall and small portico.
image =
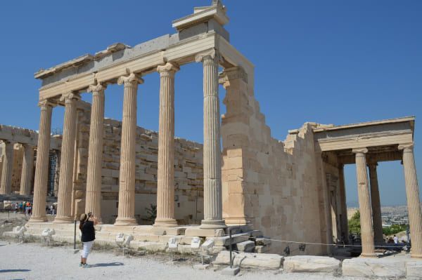
<svg viewBox="0 0 422 280">
<path fill-rule="evenodd" d="M 97 240 L 110 244 L 119 232 L 134 237 L 131 246 L 151 250 L 164 249 L 172 237 L 188 246 L 199 236 L 226 250 L 231 228 L 235 243 L 264 235 L 312 244 L 303 254 L 323 255 L 332 248 L 327 244 L 347 236 L 343 166 L 356 164 L 362 255 L 373 256 L 382 236 L 376 164 L 402 161 L 411 254 L 421 258 L 414 117 L 346 126 L 305 123 L 284 141 L 272 138 L 255 99 L 254 66 L 230 44 L 227 22 L 226 8 L 212 1 L 174 20 L 175 34 L 133 47 L 113 44 L 35 74 L 42 82 L 41 117 L 28 233 L 55 229 L 54 238 L 72 241 L 72 221 L 92 212 L 103 222 Z M 195 62 L 203 65 L 203 145 L 174 138 L 174 80 L 184 65 Z M 160 74 L 158 133 L 136 126 L 136 93 L 142 91 L 142 76 L 152 72 Z M 110 84 L 122 88 L 121 122 L 104 117 Z M 222 116 L 219 84 L 226 91 Z M 91 104 L 81 100 L 82 94 L 92 95 Z M 56 106 L 65 107 L 58 211 L 47 222 Z M 151 204 L 157 207 L 156 219 L 146 225 Z M 281 253 L 283 246 L 264 242 L 259 252 Z M 298 246 L 291 250 L 299 252 Z"/>
</svg>

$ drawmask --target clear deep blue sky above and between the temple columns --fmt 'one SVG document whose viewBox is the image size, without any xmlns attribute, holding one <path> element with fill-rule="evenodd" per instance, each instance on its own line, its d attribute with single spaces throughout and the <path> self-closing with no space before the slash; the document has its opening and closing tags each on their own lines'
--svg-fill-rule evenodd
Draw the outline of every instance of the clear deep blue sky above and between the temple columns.
<svg viewBox="0 0 422 280">
<path fill-rule="evenodd" d="M 172 20 L 211 0 L 4 1 L 0 8 L 0 124 L 38 129 L 39 68 L 110 44 L 134 46 L 173 34 Z M 422 181 L 422 1 L 226 0 L 231 44 L 255 64 L 255 95 L 274 138 L 305 121 L 349 124 L 416 116 Z M 158 130 L 158 74 L 139 87 L 138 125 Z M 106 116 L 122 119 L 120 86 L 106 91 Z M 224 91 L 221 91 L 224 97 Z M 89 100 L 89 95 L 83 95 Z M 176 79 L 176 135 L 203 140 L 202 67 Z M 224 112 L 222 105 L 222 112 Z M 63 125 L 63 108 L 53 128 Z M 346 166 L 347 201 L 357 201 Z M 381 204 L 406 204 L 398 161 L 378 166 Z"/>
</svg>

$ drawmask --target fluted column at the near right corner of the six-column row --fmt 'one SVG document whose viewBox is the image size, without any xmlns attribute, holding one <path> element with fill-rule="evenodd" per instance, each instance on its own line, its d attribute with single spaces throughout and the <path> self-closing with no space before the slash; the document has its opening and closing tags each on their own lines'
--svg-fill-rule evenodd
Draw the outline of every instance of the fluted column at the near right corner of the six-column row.
<svg viewBox="0 0 422 280">
<path fill-rule="evenodd" d="M 218 60 L 219 55 L 214 50 L 196 57 L 197 62 L 203 62 L 204 75 L 204 220 L 200 227 L 205 229 L 226 227 L 222 219 Z"/>
</svg>

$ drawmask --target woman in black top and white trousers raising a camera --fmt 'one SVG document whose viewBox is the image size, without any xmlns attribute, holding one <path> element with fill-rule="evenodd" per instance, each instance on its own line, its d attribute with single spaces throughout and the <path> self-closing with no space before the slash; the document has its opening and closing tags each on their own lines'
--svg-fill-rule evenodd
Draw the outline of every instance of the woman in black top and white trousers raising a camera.
<svg viewBox="0 0 422 280">
<path fill-rule="evenodd" d="M 82 232 L 82 244 L 84 244 L 84 249 L 82 250 L 81 254 L 81 263 L 79 267 L 89 267 L 87 265 L 87 258 L 89 252 L 91 251 L 91 247 L 94 244 L 95 240 L 95 229 L 94 225 L 98 224 L 97 219 L 92 215 L 92 213 L 82 214 L 79 219 L 79 229 Z"/>
</svg>

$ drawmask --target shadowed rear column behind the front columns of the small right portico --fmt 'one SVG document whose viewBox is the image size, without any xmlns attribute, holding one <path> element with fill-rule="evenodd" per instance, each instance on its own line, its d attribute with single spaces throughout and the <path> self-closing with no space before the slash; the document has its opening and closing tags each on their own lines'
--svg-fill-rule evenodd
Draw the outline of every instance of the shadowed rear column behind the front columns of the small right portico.
<svg viewBox="0 0 422 280">
<path fill-rule="evenodd" d="M 378 189 L 378 175 L 376 173 L 376 163 L 368 164 L 369 182 L 371 186 L 371 205 L 373 221 L 373 239 L 376 244 L 385 243 L 383 237 L 383 220 L 381 219 L 381 201 Z"/>
</svg>

